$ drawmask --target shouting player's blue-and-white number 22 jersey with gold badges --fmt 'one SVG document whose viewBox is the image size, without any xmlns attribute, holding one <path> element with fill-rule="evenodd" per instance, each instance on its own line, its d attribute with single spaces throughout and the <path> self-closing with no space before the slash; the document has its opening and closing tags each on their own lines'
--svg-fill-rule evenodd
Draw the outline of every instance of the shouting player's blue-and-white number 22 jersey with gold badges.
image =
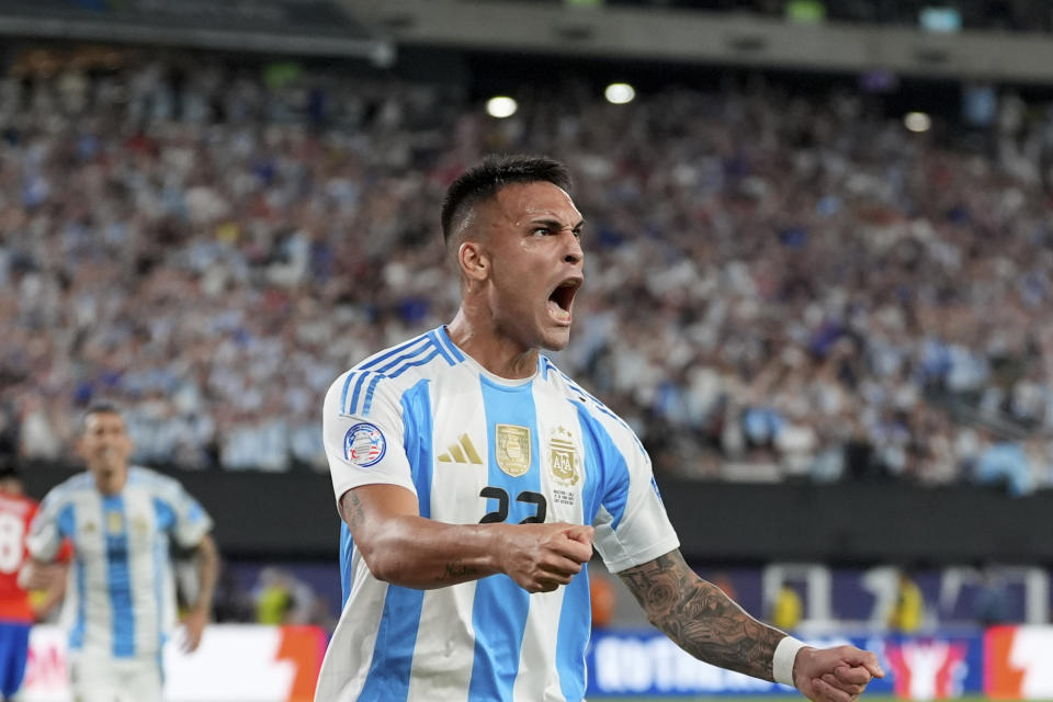
<svg viewBox="0 0 1053 702">
<path fill-rule="evenodd" d="M 596 528 L 612 571 L 679 546 L 632 430 L 545 356 L 499 378 L 433 329 L 340 376 L 324 408 L 333 491 L 412 491 L 446 523 Z M 587 570 L 553 592 L 505 575 L 431 590 L 372 576 L 341 539 L 343 610 L 317 702 L 578 702 L 590 632 Z"/>
</svg>

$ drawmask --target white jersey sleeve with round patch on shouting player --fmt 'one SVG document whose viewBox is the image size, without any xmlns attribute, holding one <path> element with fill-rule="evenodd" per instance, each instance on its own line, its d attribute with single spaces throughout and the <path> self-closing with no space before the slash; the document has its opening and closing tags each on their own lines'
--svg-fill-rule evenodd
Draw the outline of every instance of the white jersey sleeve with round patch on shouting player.
<svg viewBox="0 0 1053 702">
<path fill-rule="evenodd" d="M 353 387 L 367 387 L 370 400 L 349 414 L 347 396 Z M 322 435 L 338 506 L 344 492 L 362 485 L 398 485 L 417 494 L 401 399 L 383 375 L 349 372 L 337 378 L 326 394 Z"/>
</svg>

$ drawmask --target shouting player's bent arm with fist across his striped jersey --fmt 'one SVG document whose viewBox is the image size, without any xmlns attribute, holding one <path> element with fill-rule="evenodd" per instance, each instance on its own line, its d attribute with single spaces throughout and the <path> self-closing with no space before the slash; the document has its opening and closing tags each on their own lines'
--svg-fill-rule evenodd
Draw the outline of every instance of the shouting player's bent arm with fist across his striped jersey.
<svg viewBox="0 0 1053 702">
<path fill-rule="evenodd" d="M 566 585 L 592 556 L 580 524 L 446 524 L 420 517 L 417 497 L 395 485 L 346 491 L 340 513 L 370 573 L 418 589 L 503 573 L 530 592 Z"/>
</svg>

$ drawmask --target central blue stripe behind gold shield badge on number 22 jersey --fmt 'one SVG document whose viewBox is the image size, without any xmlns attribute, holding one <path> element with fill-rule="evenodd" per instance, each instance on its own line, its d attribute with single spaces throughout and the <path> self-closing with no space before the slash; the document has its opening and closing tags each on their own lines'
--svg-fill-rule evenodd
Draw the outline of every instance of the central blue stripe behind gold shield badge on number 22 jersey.
<svg viewBox="0 0 1053 702">
<path fill-rule="evenodd" d="M 519 523 L 534 517 L 536 503 L 518 499 L 524 491 L 541 491 L 539 469 L 537 412 L 533 383 L 508 387 L 479 377 L 486 411 L 486 435 L 490 438 L 488 487 L 507 495 L 507 522 Z M 505 449 L 497 426 L 511 424 L 530 431 L 530 466 L 524 475 L 512 477 L 500 468 L 498 454 Z M 505 434 L 506 437 L 508 434 Z M 495 500 L 487 500 L 487 509 Z M 507 575 L 494 575 L 476 582 L 472 626 L 475 630 L 475 661 L 468 700 L 511 700 L 519 675 L 520 650 L 530 612 L 530 595 Z"/>
</svg>

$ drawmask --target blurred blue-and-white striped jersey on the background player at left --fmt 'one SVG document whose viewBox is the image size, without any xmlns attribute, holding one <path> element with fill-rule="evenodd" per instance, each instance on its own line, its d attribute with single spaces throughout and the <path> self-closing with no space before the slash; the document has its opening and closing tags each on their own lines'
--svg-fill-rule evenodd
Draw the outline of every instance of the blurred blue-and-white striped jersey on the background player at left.
<svg viewBox="0 0 1053 702">
<path fill-rule="evenodd" d="M 71 650 L 98 659 L 157 656 L 176 623 L 170 539 L 201 543 L 212 519 L 174 478 L 129 467 L 117 495 L 103 495 L 90 473 L 53 488 L 41 502 L 26 545 L 52 561 L 73 544 L 63 622 Z"/>
</svg>

